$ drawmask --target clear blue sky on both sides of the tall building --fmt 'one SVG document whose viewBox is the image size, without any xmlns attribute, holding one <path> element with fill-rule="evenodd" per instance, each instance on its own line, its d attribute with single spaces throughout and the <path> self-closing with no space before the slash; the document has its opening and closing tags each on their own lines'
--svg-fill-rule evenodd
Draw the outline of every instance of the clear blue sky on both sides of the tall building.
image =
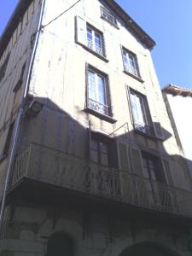
<svg viewBox="0 0 192 256">
<path fill-rule="evenodd" d="M 16 3 L 18 0 L 0 0 L 0 34 Z M 172 83 L 192 89 L 192 1 L 117 0 L 117 3 L 156 42 L 152 57 L 160 86 Z"/>
</svg>

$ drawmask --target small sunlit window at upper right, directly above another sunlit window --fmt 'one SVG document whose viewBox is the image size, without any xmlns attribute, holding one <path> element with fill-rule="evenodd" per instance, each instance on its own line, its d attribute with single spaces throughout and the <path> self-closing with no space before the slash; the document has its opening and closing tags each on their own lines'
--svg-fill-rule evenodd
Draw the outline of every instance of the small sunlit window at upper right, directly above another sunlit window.
<svg viewBox="0 0 192 256">
<path fill-rule="evenodd" d="M 131 73 L 136 77 L 140 77 L 138 64 L 137 64 L 137 56 L 127 49 L 122 49 L 123 53 L 123 62 L 124 62 L 124 70 L 126 73 Z"/>
</svg>

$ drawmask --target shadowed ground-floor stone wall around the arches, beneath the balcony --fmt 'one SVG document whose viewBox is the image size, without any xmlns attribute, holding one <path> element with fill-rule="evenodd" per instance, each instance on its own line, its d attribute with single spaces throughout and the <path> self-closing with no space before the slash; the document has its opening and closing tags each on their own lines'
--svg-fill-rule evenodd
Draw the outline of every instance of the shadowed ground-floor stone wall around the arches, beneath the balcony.
<svg viewBox="0 0 192 256">
<path fill-rule="evenodd" d="M 143 224 L 127 218 L 115 218 L 108 212 L 87 212 L 64 207 L 53 224 L 51 207 L 17 207 L 13 220 L 7 223 L 3 247 L 9 255 L 46 255 L 49 236 L 64 232 L 72 237 L 75 255 L 119 256 L 131 245 L 150 242 L 172 249 L 178 255 L 189 256 L 189 233 Z"/>
</svg>

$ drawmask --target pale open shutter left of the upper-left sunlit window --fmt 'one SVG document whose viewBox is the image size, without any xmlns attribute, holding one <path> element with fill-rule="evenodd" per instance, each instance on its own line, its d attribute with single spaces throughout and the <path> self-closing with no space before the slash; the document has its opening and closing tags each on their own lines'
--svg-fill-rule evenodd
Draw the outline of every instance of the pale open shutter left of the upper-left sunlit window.
<svg viewBox="0 0 192 256">
<path fill-rule="evenodd" d="M 76 16 L 76 41 L 79 44 L 87 45 L 86 22 L 79 16 Z"/>
</svg>

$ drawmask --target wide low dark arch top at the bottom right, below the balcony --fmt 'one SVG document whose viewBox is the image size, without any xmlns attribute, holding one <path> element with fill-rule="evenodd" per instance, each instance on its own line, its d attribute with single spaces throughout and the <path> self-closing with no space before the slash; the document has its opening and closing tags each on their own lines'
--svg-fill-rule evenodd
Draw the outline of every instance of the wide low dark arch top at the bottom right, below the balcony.
<svg viewBox="0 0 192 256">
<path fill-rule="evenodd" d="M 126 248 L 120 256 L 177 256 L 170 249 L 149 243 L 136 244 Z"/>
</svg>

